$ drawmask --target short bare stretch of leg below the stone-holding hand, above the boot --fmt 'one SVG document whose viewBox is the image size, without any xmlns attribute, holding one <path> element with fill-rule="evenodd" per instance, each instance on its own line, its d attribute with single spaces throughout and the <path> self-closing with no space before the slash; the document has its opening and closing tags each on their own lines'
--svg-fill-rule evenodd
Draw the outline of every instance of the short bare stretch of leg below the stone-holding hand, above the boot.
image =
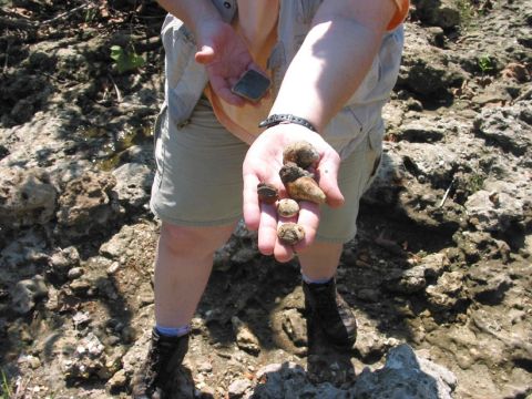
<svg viewBox="0 0 532 399">
<path fill-rule="evenodd" d="M 301 273 L 313 280 L 332 277 L 336 274 L 342 248 L 341 244 L 315 242 L 298 254 Z"/>
</svg>

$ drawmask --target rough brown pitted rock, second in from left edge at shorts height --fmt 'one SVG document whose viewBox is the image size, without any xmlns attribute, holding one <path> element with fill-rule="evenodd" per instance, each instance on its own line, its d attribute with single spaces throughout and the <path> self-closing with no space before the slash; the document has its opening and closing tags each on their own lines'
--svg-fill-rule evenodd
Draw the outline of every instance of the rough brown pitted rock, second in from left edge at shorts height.
<svg viewBox="0 0 532 399">
<path fill-rule="evenodd" d="M 120 215 L 115 185 L 114 176 L 103 172 L 86 172 L 68 183 L 59 198 L 58 234 L 80 238 L 109 228 Z"/>
</svg>

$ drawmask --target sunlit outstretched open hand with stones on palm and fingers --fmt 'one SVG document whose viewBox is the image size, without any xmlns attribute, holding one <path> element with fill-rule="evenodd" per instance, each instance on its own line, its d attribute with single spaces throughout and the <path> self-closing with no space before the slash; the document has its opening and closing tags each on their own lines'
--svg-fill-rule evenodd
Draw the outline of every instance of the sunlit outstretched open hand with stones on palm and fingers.
<svg viewBox="0 0 532 399">
<path fill-rule="evenodd" d="M 277 238 L 277 227 L 287 219 L 277 216 L 275 204 L 259 203 L 257 184 L 275 185 L 280 197 L 286 197 L 279 177 L 283 166 L 283 149 L 289 143 L 305 140 L 318 151 L 320 158 L 316 165 L 318 184 L 327 196 L 327 204 L 337 207 L 344 204 L 338 188 L 338 153 L 318 134 L 297 124 L 278 124 L 263 132 L 247 151 L 243 165 L 244 219 L 250 229 L 258 229 L 258 248 L 265 255 L 274 255 L 278 262 L 288 262 L 294 254 L 304 250 L 316 237 L 319 225 L 319 205 L 301 201 L 297 222 L 305 229 L 305 238 L 290 247 Z"/>
</svg>

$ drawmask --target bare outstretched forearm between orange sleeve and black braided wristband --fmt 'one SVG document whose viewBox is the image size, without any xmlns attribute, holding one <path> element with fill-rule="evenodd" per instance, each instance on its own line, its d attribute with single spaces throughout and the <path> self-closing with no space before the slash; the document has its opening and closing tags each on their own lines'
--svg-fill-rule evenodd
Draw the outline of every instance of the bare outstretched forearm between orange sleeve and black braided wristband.
<svg viewBox="0 0 532 399">
<path fill-rule="evenodd" d="M 350 9 L 358 12 L 355 16 L 346 16 L 346 9 L 335 7 L 318 10 L 270 111 L 305 117 L 319 132 L 364 80 L 395 11 L 390 0 L 371 10 Z"/>
</svg>

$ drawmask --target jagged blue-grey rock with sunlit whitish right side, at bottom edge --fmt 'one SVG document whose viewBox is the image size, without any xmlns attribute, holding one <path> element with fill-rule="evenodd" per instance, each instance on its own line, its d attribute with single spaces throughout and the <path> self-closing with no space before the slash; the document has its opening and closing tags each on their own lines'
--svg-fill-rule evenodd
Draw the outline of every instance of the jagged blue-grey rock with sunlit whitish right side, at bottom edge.
<svg viewBox="0 0 532 399">
<path fill-rule="evenodd" d="M 451 399 L 456 385 L 451 371 L 416 356 L 408 345 L 400 345 L 390 349 L 383 368 L 365 368 L 350 393 L 368 399 Z"/>
</svg>

